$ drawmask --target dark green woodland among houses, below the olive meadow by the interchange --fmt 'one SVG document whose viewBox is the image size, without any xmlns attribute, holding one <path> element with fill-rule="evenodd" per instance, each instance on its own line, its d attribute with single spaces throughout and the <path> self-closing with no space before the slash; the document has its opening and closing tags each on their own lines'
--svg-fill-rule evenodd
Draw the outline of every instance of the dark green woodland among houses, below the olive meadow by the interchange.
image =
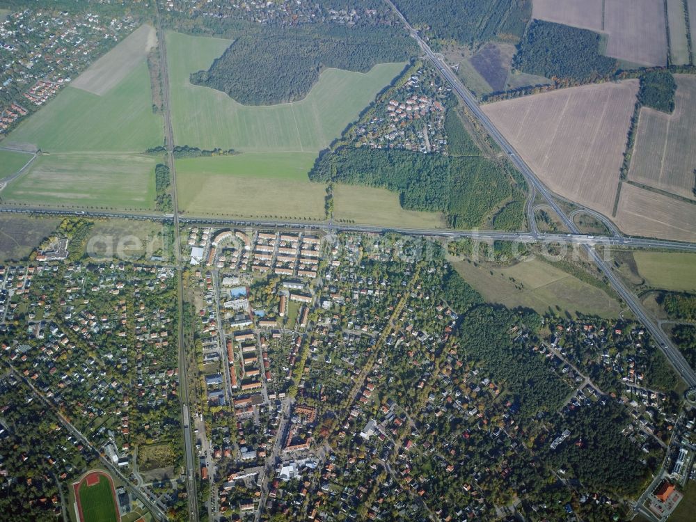
<svg viewBox="0 0 696 522">
<path fill-rule="evenodd" d="M 528 418 L 541 411 L 556 411 L 566 400 L 571 388 L 558 377 L 548 361 L 524 340 L 515 340 L 516 326 L 539 324 L 539 315 L 520 317 L 507 308 L 479 306 L 464 316 L 459 326 L 459 347 L 462 357 L 484 367 L 493 380 L 518 402 L 520 413 Z M 532 317 L 536 316 L 536 317 Z"/>
</svg>

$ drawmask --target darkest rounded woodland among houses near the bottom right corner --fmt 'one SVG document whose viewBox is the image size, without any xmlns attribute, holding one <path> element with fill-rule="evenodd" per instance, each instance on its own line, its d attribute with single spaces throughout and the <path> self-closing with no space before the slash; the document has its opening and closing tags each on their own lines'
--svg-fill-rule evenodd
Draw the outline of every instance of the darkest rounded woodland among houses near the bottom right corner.
<svg viewBox="0 0 696 522">
<path fill-rule="evenodd" d="M 570 436 L 545 457 L 554 468 L 570 470 L 585 487 L 624 495 L 635 493 L 648 473 L 640 449 L 622 434 L 630 422 L 622 406 L 607 401 L 576 409 L 555 422 L 557 433 Z M 548 441 L 546 441 L 548 443 Z"/>
</svg>

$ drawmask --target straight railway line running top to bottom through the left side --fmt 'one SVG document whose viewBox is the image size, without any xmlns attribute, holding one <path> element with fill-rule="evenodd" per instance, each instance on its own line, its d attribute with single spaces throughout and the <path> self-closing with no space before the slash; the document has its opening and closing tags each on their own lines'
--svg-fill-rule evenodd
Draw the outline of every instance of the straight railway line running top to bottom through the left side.
<svg viewBox="0 0 696 522">
<path fill-rule="evenodd" d="M 182 278 L 181 231 L 179 226 L 179 203 L 177 198 L 176 169 L 174 164 L 174 131 L 171 118 L 171 97 L 169 94 L 169 74 L 167 71 L 167 49 L 164 31 L 162 30 L 159 2 L 155 2 L 157 10 L 157 40 L 159 42 L 160 80 L 162 87 L 162 105 L 164 109 L 164 136 L 167 149 L 167 163 L 171 177 L 171 195 L 174 207 L 174 253 L 177 264 L 177 340 L 179 347 L 179 393 L 181 397 L 182 426 L 184 432 L 184 462 L 186 463 L 186 489 L 189 500 L 189 520 L 198 522 L 198 493 L 196 491 L 196 473 L 198 464 L 193 445 L 193 427 L 189 411 L 189 377 L 187 375 L 187 356 L 184 347 L 184 282 Z M 211 477 L 212 478 L 212 477 Z"/>
</svg>

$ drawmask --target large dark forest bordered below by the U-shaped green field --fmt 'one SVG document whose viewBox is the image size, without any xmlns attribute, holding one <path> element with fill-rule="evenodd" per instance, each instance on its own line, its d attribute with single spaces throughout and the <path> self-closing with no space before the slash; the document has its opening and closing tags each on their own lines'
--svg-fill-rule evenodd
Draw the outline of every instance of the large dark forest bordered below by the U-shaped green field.
<svg viewBox="0 0 696 522">
<path fill-rule="evenodd" d="M 367 72 L 416 52 L 398 26 L 249 25 L 209 70 L 191 74 L 191 83 L 246 105 L 278 104 L 305 97 L 324 68 Z"/>
</svg>

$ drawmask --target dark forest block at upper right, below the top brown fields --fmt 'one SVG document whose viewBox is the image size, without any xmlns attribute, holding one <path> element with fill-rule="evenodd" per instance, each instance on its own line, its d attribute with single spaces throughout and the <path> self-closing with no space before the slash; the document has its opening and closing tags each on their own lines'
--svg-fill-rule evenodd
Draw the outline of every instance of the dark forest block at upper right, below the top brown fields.
<svg viewBox="0 0 696 522">
<path fill-rule="evenodd" d="M 599 34 L 535 20 L 527 29 L 512 66 L 521 72 L 587 83 L 614 74 L 618 62 L 600 53 Z"/>
</svg>

